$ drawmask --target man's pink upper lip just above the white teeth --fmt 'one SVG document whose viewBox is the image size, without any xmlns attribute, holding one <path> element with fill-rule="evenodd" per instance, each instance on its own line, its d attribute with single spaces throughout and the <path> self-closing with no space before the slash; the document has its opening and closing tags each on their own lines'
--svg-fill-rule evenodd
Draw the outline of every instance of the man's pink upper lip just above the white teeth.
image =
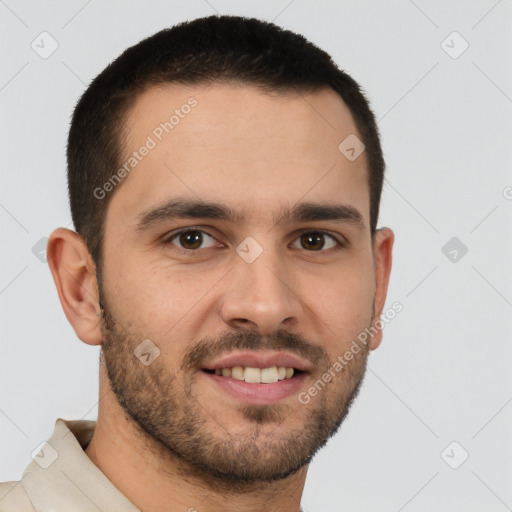
<svg viewBox="0 0 512 512">
<path fill-rule="evenodd" d="M 311 363 L 293 354 L 275 351 L 244 351 L 231 353 L 207 362 L 204 370 L 233 368 L 234 366 L 250 366 L 253 368 L 270 368 L 272 366 L 286 366 L 303 372 L 310 371 Z"/>
</svg>

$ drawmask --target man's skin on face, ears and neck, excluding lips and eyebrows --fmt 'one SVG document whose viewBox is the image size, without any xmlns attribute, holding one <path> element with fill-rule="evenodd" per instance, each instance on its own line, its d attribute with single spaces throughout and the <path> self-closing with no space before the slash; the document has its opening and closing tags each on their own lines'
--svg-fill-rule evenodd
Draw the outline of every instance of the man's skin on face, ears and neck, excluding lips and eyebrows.
<svg viewBox="0 0 512 512">
<path fill-rule="evenodd" d="M 296 394 L 242 404 L 201 368 L 239 349 L 280 350 L 311 364 L 307 390 L 382 313 L 393 233 L 378 230 L 372 244 L 365 156 L 349 161 L 338 150 L 358 132 L 332 91 L 152 88 L 125 120 L 127 157 L 191 97 L 197 106 L 109 192 L 101 282 L 79 235 L 59 228 L 50 238 L 64 312 L 83 342 L 102 344 L 86 453 L 145 512 L 297 512 L 308 463 L 341 424 L 382 334 L 308 404 Z M 141 213 L 178 197 L 245 219 L 136 229 Z M 301 202 L 350 206 L 362 223 L 275 223 Z M 171 239 L 182 228 L 201 231 L 202 242 Z M 335 238 L 311 241 L 304 231 Z M 262 248 L 252 263 L 236 252 L 249 236 Z M 134 355 L 145 339 L 160 350 L 147 366 Z"/>
</svg>

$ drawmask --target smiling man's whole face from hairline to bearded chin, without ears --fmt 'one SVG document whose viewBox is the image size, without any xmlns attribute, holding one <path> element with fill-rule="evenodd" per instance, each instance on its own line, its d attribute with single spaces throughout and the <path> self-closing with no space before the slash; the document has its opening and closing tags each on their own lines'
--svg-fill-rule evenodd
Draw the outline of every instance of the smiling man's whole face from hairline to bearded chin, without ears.
<svg viewBox="0 0 512 512">
<path fill-rule="evenodd" d="M 338 150 L 351 114 L 330 91 L 216 84 L 151 89 L 126 123 L 100 283 L 112 389 L 189 473 L 284 478 L 338 429 L 369 350 L 336 371 L 375 295 L 365 156 Z"/>
</svg>

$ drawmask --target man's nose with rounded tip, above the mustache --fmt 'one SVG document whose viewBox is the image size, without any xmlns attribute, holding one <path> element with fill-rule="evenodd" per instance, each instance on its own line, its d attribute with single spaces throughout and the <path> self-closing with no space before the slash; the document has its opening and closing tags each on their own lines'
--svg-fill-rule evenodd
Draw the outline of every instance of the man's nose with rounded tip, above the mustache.
<svg viewBox="0 0 512 512">
<path fill-rule="evenodd" d="M 252 263 L 237 257 L 221 307 L 227 325 L 269 335 L 298 324 L 303 307 L 281 259 L 270 249 Z"/>
</svg>

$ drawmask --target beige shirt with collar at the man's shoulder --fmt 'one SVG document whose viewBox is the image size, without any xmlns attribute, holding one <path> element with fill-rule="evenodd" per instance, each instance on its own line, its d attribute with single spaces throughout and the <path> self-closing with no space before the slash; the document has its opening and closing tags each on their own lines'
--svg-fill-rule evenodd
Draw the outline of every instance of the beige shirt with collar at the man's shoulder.
<svg viewBox="0 0 512 512">
<path fill-rule="evenodd" d="M 140 512 L 84 452 L 95 427 L 57 419 L 21 480 L 0 483 L 0 512 Z"/>
</svg>

